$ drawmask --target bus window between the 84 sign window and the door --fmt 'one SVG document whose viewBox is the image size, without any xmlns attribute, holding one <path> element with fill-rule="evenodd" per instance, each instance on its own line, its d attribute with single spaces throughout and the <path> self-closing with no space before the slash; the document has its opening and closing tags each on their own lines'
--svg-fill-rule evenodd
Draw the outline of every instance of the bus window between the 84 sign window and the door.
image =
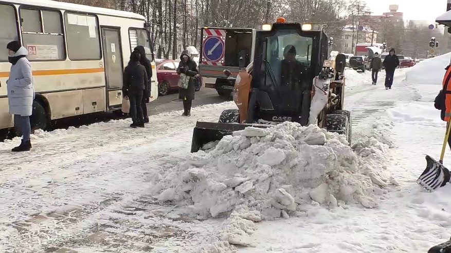
<svg viewBox="0 0 451 253">
<path fill-rule="evenodd" d="M 65 12 L 64 22 L 70 60 L 102 59 L 96 16 Z"/>
</svg>

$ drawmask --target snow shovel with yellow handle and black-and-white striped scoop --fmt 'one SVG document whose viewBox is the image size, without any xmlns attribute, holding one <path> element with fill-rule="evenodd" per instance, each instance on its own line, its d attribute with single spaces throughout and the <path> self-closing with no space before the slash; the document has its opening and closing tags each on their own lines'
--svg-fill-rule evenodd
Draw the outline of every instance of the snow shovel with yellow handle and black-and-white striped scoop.
<svg viewBox="0 0 451 253">
<path fill-rule="evenodd" d="M 434 158 L 426 155 L 426 169 L 418 178 L 417 183 L 428 191 L 434 191 L 435 189 L 444 186 L 449 182 L 450 173 L 449 170 L 443 166 L 443 157 L 445 155 L 446 142 L 449 138 L 449 132 L 451 131 L 451 118 L 448 121 L 445 140 L 443 140 L 442 154 L 440 155 L 440 161 L 437 162 Z"/>
</svg>

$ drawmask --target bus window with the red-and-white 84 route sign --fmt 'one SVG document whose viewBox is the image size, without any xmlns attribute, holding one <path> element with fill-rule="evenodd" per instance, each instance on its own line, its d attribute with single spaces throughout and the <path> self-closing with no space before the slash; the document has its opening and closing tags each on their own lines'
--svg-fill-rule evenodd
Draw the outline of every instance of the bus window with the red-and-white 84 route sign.
<svg viewBox="0 0 451 253">
<path fill-rule="evenodd" d="M 23 44 L 30 61 L 65 60 L 60 11 L 20 8 Z"/>
</svg>

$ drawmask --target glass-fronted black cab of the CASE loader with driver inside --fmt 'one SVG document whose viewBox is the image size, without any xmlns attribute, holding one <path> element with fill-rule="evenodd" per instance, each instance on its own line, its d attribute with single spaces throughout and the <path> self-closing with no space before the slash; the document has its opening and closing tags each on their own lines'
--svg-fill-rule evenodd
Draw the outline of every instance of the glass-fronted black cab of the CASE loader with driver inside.
<svg viewBox="0 0 451 253">
<path fill-rule="evenodd" d="M 306 125 L 313 79 L 328 56 L 322 25 L 275 23 L 257 31 L 248 119 Z"/>
</svg>

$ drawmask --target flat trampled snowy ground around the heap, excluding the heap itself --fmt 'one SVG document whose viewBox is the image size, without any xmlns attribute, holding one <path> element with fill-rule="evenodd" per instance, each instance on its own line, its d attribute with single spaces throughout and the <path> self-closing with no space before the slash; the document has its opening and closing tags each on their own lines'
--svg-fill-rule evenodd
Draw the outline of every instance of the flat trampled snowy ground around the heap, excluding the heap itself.
<svg viewBox="0 0 451 253">
<path fill-rule="evenodd" d="M 425 193 L 415 182 L 424 155 L 440 153 L 444 123 L 432 105 L 440 84 L 408 83 L 407 71 L 396 71 L 392 90 L 383 87 L 384 72 L 373 86 L 370 72 L 350 71 L 345 101 L 354 143 L 374 123 L 393 122 L 387 138 L 394 147 L 378 162 L 399 186 L 383 189 L 375 208 L 322 208 L 256 223 L 251 247 L 238 252 L 427 252 L 448 240 L 451 187 Z M 197 107 L 191 118 L 159 114 L 145 129 L 124 120 L 40 131 L 27 153 L 9 151 L 17 139 L 0 143 L 0 252 L 196 252 L 224 220 L 191 219 L 184 208 L 157 202 L 151 176 L 185 159 L 196 120 L 216 122 L 234 107 Z M 450 158 L 447 149 L 445 165 Z"/>
</svg>

